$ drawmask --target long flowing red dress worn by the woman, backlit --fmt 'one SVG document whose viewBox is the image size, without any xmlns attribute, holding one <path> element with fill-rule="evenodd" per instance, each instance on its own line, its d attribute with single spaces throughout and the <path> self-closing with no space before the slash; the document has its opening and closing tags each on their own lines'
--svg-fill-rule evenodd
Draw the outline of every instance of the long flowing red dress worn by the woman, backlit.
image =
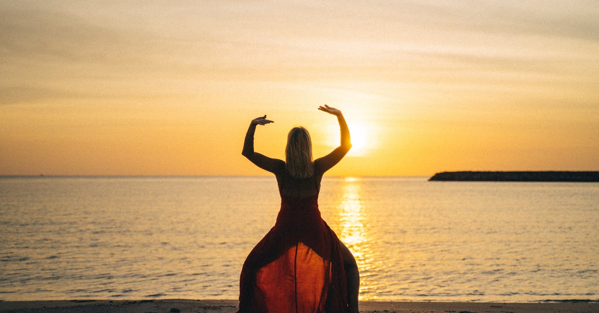
<svg viewBox="0 0 599 313">
<path fill-rule="evenodd" d="M 339 240 L 317 194 L 281 194 L 276 224 L 243 264 L 238 312 L 348 312 Z"/>
</svg>

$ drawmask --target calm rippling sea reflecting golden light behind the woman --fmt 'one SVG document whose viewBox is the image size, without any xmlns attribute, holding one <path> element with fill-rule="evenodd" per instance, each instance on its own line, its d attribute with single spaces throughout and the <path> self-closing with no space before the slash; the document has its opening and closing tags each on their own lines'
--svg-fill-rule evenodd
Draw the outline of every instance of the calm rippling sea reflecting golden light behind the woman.
<svg viewBox="0 0 599 313">
<path fill-rule="evenodd" d="M 599 299 L 599 183 L 325 177 L 361 298 Z M 237 299 L 274 177 L 0 178 L 0 299 Z"/>
</svg>

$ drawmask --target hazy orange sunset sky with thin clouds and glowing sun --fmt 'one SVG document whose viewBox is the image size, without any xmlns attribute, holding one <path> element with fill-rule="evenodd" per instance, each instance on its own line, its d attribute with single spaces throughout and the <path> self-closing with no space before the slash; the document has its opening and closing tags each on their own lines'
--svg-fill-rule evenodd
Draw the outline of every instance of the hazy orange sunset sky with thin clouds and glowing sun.
<svg viewBox="0 0 599 313">
<path fill-rule="evenodd" d="M 0 4 L 0 174 L 267 174 L 310 130 L 330 174 L 599 170 L 593 1 Z"/>
</svg>

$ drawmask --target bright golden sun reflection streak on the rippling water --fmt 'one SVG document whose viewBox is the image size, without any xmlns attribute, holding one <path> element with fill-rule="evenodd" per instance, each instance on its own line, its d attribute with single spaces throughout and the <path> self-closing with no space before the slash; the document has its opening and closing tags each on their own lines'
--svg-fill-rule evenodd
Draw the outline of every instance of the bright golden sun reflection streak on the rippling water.
<svg viewBox="0 0 599 313">
<path fill-rule="evenodd" d="M 370 284 L 370 269 L 373 264 L 372 251 L 370 250 L 370 237 L 368 236 L 368 215 L 365 206 L 360 200 L 361 184 L 355 177 L 347 177 L 342 187 L 342 200 L 338 206 L 339 239 L 350 251 L 358 263 L 360 272 L 360 300 L 376 299 L 368 291 Z"/>
</svg>

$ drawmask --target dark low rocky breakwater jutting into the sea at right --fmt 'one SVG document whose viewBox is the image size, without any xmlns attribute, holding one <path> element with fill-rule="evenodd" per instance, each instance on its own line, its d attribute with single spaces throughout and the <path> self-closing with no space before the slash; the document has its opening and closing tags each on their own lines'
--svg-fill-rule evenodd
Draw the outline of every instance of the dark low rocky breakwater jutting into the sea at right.
<svg viewBox="0 0 599 313">
<path fill-rule="evenodd" d="M 429 180 L 471 182 L 599 182 L 599 171 L 444 171 Z"/>
</svg>

